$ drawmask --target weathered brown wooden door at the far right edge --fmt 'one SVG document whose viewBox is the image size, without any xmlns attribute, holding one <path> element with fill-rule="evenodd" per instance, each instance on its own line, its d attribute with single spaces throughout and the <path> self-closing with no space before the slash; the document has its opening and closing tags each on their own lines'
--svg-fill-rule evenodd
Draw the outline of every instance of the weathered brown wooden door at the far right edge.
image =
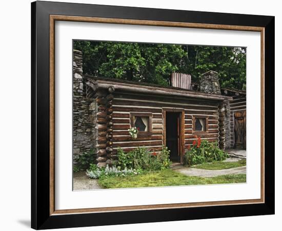
<svg viewBox="0 0 282 231">
<path fill-rule="evenodd" d="M 246 149 L 246 110 L 234 112 L 235 148 Z"/>
</svg>

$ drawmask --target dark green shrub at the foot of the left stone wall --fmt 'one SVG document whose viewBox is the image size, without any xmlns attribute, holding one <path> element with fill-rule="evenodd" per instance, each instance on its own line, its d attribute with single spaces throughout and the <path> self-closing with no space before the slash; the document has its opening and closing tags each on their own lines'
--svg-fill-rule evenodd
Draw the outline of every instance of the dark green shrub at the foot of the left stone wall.
<svg viewBox="0 0 282 231">
<path fill-rule="evenodd" d="M 88 152 L 84 152 L 82 155 L 74 157 L 74 161 L 76 162 L 76 164 L 73 165 L 74 172 L 86 170 L 89 168 L 90 164 L 96 163 L 96 153 L 94 149 L 91 149 Z"/>
</svg>

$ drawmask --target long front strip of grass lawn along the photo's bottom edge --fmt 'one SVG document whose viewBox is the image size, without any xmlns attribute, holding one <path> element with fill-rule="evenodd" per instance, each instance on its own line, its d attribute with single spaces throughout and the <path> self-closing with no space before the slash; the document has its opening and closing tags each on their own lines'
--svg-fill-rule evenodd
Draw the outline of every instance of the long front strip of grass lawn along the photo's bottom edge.
<svg viewBox="0 0 282 231">
<path fill-rule="evenodd" d="M 126 177 L 106 177 L 98 180 L 102 188 L 135 188 L 176 185 L 245 183 L 246 174 L 224 175 L 211 178 L 191 177 L 171 169 Z"/>
</svg>

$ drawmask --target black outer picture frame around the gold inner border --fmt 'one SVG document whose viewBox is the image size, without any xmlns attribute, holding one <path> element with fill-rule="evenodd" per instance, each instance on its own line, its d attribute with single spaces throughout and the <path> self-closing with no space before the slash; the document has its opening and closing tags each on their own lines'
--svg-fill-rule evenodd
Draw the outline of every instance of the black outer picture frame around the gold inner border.
<svg viewBox="0 0 282 231">
<path fill-rule="evenodd" d="M 265 28 L 264 203 L 50 215 L 49 15 L 234 25 Z M 274 17 L 137 7 L 31 4 L 31 227 L 34 229 L 274 214 Z"/>
</svg>

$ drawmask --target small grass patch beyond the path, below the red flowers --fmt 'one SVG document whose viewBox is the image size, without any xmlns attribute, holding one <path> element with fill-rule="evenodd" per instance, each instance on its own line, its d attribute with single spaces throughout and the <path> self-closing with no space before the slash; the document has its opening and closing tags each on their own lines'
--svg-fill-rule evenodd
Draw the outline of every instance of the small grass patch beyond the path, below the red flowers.
<svg viewBox="0 0 282 231">
<path fill-rule="evenodd" d="M 246 166 L 246 159 L 242 159 L 237 162 L 213 161 L 210 163 L 204 163 L 197 166 L 193 166 L 193 168 L 220 170 L 220 169 L 236 168 L 241 166 Z"/>
</svg>

